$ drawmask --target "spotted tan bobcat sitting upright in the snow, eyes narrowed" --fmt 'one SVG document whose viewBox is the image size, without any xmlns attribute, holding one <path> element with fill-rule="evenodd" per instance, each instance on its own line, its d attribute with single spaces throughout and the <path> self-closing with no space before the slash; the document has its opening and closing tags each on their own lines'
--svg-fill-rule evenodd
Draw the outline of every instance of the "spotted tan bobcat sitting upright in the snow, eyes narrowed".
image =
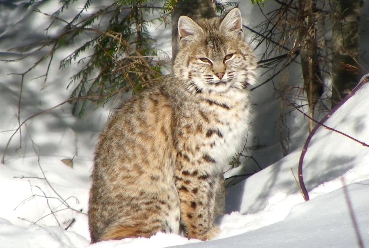
<svg viewBox="0 0 369 248">
<path fill-rule="evenodd" d="M 95 151 L 92 243 L 157 232 L 208 240 L 223 166 L 243 145 L 256 60 L 241 12 L 178 20 L 180 50 L 163 83 L 125 101 Z"/>
</svg>

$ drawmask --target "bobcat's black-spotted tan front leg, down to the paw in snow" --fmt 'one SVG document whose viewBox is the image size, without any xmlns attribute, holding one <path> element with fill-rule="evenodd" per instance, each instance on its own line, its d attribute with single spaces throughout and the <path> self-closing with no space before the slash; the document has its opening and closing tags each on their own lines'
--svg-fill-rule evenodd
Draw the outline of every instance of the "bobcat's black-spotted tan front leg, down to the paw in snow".
<svg viewBox="0 0 369 248">
<path fill-rule="evenodd" d="M 179 154 L 179 157 L 183 156 Z M 180 222 L 187 237 L 199 240 L 209 240 L 218 233 L 213 222 L 219 175 L 210 174 L 206 169 L 211 164 L 209 161 L 205 162 L 206 164 L 195 165 L 188 157 L 184 160 L 179 158 L 175 171 L 181 210 Z"/>
</svg>

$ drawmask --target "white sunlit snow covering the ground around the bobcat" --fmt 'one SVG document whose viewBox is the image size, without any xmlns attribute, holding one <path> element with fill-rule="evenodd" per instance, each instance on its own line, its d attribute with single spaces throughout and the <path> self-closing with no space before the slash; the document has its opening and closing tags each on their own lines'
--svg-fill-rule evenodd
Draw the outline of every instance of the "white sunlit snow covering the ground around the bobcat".
<svg viewBox="0 0 369 248">
<path fill-rule="evenodd" d="M 47 27 L 49 19 L 42 14 L 30 15 L 23 5 L 15 1 L 14 4 L 0 3 L 0 18 L 4 20 L 0 23 L 1 59 L 13 59 L 17 51 L 8 49 L 44 35 L 43 27 Z M 45 12 L 56 8 L 47 1 L 38 7 Z M 240 4 L 245 21 L 250 16 L 253 23 L 258 22 L 254 8 L 249 3 Z M 151 29 L 158 39 L 158 47 L 170 55 L 170 26 Z M 55 30 L 49 33 L 55 34 Z M 200 242 L 158 233 L 151 238 L 89 245 L 86 213 L 93 150 L 108 116 L 117 105 L 115 99 L 96 110 L 90 105 L 82 118 L 72 116 L 69 104 L 37 115 L 25 122 L 21 135 L 15 133 L 5 151 L 19 123 L 69 97 L 71 89 L 66 90 L 66 85 L 77 66 L 59 71 L 58 61 L 70 52 L 56 54 L 46 84 L 44 78 L 31 79 L 44 74 L 47 63 L 27 74 L 19 121 L 21 77 L 10 73 L 24 72 L 37 57 L 30 56 L 18 63 L 0 61 L 0 74 L 3 75 L 0 78 L 0 156 L 6 153 L 5 163 L 0 164 L 0 248 L 347 248 L 359 247 L 355 221 L 363 243 L 369 246 L 369 148 L 321 127 L 313 136 L 304 159 L 304 181 L 311 199 L 304 202 L 295 177 L 308 135 L 308 123 L 297 111 L 293 113 L 290 153 L 281 156 L 279 140 L 271 135 L 279 115 L 278 101 L 268 85 L 254 91 L 257 95 L 254 100 L 256 124 L 252 131 L 252 135 L 260 137 L 258 142 L 266 144 L 255 154 L 264 169 L 228 189 L 227 214 L 217 218 L 221 231 L 214 240 Z M 368 58 L 363 57 L 363 60 Z M 369 144 L 368 92 L 369 84 L 363 85 L 325 125 Z M 62 163 L 65 158 L 73 160 L 73 168 Z M 252 160 L 246 162 L 252 163 Z M 237 170 L 241 168 L 233 173 Z"/>
</svg>

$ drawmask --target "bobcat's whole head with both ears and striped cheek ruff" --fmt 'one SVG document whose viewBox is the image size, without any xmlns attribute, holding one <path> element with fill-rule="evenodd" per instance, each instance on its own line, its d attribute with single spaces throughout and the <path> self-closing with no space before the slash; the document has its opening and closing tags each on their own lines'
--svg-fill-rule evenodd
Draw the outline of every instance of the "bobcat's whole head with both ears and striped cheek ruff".
<svg viewBox="0 0 369 248">
<path fill-rule="evenodd" d="M 254 83 L 256 63 L 244 41 L 242 21 L 226 18 L 214 19 L 212 25 L 179 19 L 181 49 L 173 68 L 191 92 L 225 93 Z"/>
</svg>

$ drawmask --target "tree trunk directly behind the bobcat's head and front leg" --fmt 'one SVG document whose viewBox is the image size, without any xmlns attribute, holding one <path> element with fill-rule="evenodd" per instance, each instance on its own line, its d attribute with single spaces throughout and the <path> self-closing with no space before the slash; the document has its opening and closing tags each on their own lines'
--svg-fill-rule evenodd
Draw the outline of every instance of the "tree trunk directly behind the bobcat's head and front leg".
<svg viewBox="0 0 369 248">
<path fill-rule="evenodd" d="M 198 18 L 212 18 L 215 17 L 215 8 L 213 6 L 212 0 L 193 0 L 193 1 L 183 1 L 178 0 L 176 7 L 172 13 L 172 63 L 176 58 L 178 48 L 179 48 L 179 39 L 178 39 L 178 18 L 181 15 L 187 15 L 188 17 L 193 18 L 194 20 Z M 219 178 L 219 188 L 216 193 L 215 198 L 215 211 L 214 216 L 218 216 L 220 214 L 225 213 L 225 185 L 224 185 L 224 177 L 222 175 Z"/>
</svg>

